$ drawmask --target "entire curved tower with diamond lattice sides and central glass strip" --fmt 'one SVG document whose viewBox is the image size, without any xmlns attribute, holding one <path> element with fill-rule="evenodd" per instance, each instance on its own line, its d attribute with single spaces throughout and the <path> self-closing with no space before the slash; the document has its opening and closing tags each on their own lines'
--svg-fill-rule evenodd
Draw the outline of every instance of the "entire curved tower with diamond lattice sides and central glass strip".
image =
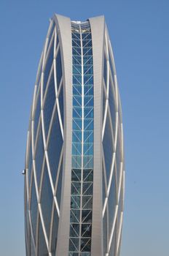
<svg viewBox="0 0 169 256">
<path fill-rule="evenodd" d="M 25 157 L 26 255 L 117 256 L 122 110 L 104 17 L 54 15 L 36 76 Z"/>
</svg>

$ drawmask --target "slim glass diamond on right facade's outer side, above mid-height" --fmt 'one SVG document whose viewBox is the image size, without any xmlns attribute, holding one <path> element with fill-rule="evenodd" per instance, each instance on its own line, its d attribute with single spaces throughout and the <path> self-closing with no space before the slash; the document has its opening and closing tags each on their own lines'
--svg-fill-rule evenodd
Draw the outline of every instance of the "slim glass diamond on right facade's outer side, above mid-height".
<svg viewBox="0 0 169 256">
<path fill-rule="evenodd" d="M 117 108 L 116 108 L 116 104 L 115 104 L 114 93 L 113 93 L 113 88 L 112 88 L 111 83 L 109 84 L 109 107 L 110 107 L 111 122 L 112 122 L 114 137 L 115 137 Z"/>
</svg>

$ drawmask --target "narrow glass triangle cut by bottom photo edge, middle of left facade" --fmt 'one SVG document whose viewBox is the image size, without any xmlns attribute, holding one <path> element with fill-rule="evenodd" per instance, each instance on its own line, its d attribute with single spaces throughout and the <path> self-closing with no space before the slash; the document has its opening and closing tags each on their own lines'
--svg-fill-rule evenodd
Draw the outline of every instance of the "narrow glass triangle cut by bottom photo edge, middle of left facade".
<svg viewBox="0 0 169 256">
<path fill-rule="evenodd" d="M 42 230 L 41 219 L 39 219 L 39 239 L 38 239 L 38 255 L 48 256 L 47 244 L 44 239 L 44 231 Z"/>
</svg>

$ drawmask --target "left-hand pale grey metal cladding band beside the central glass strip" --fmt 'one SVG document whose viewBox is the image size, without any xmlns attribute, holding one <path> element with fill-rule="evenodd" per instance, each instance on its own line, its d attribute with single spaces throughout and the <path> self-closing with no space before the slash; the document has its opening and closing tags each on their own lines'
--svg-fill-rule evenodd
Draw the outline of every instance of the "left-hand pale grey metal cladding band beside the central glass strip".
<svg viewBox="0 0 169 256">
<path fill-rule="evenodd" d="M 63 88 L 65 91 L 65 143 L 63 148 L 63 184 L 60 208 L 60 222 L 56 255 L 68 255 L 71 198 L 71 129 L 72 129 L 72 56 L 71 56 L 71 20 L 56 15 L 60 31 L 63 56 Z"/>
</svg>

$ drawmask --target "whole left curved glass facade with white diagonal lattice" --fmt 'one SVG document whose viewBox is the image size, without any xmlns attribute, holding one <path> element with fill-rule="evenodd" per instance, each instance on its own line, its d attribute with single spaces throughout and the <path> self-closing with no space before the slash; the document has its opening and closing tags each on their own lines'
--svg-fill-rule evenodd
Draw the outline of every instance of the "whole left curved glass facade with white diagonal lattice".
<svg viewBox="0 0 169 256">
<path fill-rule="evenodd" d="M 54 64 L 55 63 L 55 64 Z M 58 29 L 51 21 L 36 78 L 25 181 L 26 255 L 55 255 L 63 151 L 63 83 Z M 30 213 L 30 214 L 29 214 Z"/>
</svg>

